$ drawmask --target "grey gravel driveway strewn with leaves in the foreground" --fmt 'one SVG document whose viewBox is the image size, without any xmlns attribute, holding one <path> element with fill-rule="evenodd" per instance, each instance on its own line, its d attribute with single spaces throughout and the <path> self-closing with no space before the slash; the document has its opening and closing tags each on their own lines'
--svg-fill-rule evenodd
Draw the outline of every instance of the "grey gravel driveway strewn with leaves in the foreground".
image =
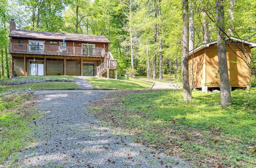
<svg viewBox="0 0 256 168">
<path fill-rule="evenodd" d="M 106 92 L 39 95 L 42 113 L 31 121 L 33 142 L 17 154 L 18 167 L 188 167 L 133 142 L 133 135 L 110 128 L 89 113 L 87 104 Z"/>
</svg>

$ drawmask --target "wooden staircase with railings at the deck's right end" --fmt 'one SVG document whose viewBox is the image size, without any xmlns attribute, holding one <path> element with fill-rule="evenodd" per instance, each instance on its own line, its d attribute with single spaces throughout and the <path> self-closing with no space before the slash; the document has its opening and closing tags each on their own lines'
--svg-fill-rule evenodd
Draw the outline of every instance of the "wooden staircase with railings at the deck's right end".
<svg viewBox="0 0 256 168">
<path fill-rule="evenodd" d="M 116 70 L 115 78 L 117 78 L 117 61 L 114 60 L 110 52 L 105 61 L 95 69 L 97 77 L 102 77 L 102 75 L 106 73 L 106 77 L 108 78 L 110 77 L 110 70 Z"/>
</svg>

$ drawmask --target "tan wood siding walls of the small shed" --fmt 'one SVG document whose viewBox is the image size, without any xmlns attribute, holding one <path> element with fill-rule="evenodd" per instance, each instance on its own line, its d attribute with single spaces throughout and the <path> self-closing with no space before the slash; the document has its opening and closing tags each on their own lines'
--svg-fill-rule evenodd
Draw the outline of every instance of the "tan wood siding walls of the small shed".
<svg viewBox="0 0 256 168">
<path fill-rule="evenodd" d="M 231 49 L 231 48 L 232 49 Z M 249 82 L 248 66 L 240 59 L 243 53 L 233 44 L 227 46 L 228 73 L 231 87 L 247 87 Z M 239 45 L 250 53 L 249 45 Z M 234 51 L 234 52 L 233 52 Z M 191 73 L 191 56 L 188 60 L 189 74 Z M 219 87 L 219 65 L 217 44 L 212 44 L 194 54 L 194 83 L 193 87 L 201 88 L 202 86 Z M 190 74 L 191 81 L 191 74 Z"/>
</svg>

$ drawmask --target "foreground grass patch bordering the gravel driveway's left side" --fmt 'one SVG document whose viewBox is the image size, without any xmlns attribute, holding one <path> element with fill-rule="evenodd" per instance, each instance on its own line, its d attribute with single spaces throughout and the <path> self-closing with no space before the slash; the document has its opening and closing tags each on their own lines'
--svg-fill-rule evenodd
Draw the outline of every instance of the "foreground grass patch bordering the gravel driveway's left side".
<svg viewBox="0 0 256 168">
<path fill-rule="evenodd" d="M 37 117 L 30 100 L 31 95 L 0 96 L 0 164 L 17 152 L 30 139 L 29 120 Z"/>
</svg>

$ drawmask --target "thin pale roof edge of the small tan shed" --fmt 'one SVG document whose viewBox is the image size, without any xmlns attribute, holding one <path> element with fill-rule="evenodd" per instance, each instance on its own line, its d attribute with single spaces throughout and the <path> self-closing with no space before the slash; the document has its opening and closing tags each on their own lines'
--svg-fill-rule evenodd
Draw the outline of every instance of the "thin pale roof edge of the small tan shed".
<svg viewBox="0 0 256 168">
<path fill-rule="evenodd" d="M 256 47 L 256 43 L 251 42 L 251 41 L 239 39 L 239 38 L 236 38 L 236 37 L 229 37 L 229 38 L 226 38 L 226 39 L 227 39 L 227 40 L 231 39 L 231 40 L 239 41 L 239 42 L 241 42 L 241 43 L 249 44 L 249 45 L 251 45 L 251 48 Z M 198 46 L 197 48 L 195 48 L 195 49 L 193 49 L 193 50 L 190 50 L 190 51 L 188 52 L 188 55 L 192 54 L 193 51 L 194 51 L 194 53 L 196 53 L 197 51 L 200 51 L 201 49 L 206 48 L 206 47 L 209 47 L 209 45 L 211 45 L 211 44 L 216 44 L 216 43 L 217 43 L 217 40 L 211 41 L 211 42 L 208 42 L 208 43 L 203 43 L 203 44 L 201 44 L 200 46 Z"/>
</svg>

